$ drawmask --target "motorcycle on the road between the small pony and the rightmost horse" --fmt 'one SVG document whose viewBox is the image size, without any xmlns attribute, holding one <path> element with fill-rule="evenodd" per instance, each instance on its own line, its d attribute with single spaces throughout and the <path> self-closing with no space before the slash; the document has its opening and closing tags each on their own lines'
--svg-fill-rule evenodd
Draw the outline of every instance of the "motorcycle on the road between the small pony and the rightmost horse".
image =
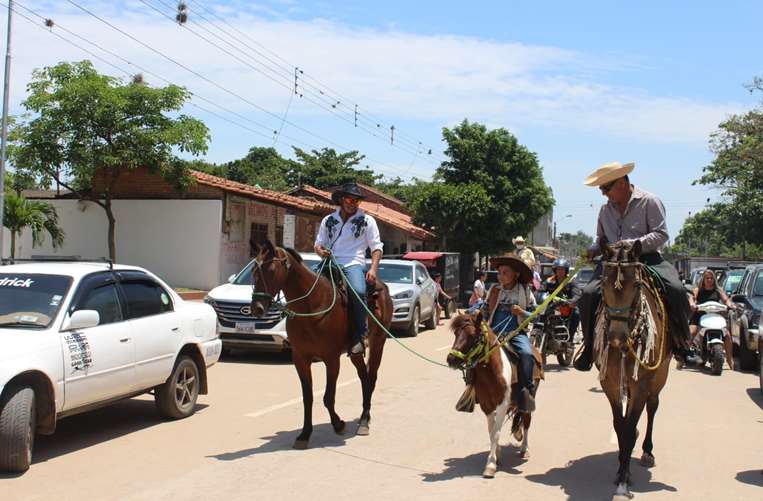
<svg viewBox="0 0 763 501">
<path fill-rule="evenodd" d="M 548 293 L 541 295 L 545 300 Z M 533 322 L 530 332 L 535 347 L 541 354 L 543 365 L 548 355 L 556 355 L 559 365 L 568 367 L 575 352 L 575 333 L 570 333 L 569 323 L 573 307 L 562 298 L 554 299 Z"/>
</svg>

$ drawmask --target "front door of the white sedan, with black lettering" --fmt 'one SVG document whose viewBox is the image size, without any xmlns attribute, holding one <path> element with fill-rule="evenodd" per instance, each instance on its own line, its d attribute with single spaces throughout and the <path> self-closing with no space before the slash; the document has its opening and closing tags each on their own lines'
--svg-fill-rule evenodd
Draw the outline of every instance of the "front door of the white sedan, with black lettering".
<svg viewBox="0 0 763 501">
<path fill-rule="evenodd" d="M 64 347 L 64 411 L 135 390 L 135 346 L 111 273 L 86 277 L 67 314 L 95 310 L 99 324 L 61 332 Z"/>
</svg>

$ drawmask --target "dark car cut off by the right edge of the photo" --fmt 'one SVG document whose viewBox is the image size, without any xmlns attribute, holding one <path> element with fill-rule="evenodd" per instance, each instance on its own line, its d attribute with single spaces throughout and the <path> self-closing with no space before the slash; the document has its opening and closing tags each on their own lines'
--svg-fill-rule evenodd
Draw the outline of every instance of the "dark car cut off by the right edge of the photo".
<svg viewBox="0 0 763 501">
<path fill-rule="evenodd" d="M 739 366 L 742 370 L 755 370 L 758 365 L 760 317 L 763 311 L 763 263 L 745 267 L 742 280 L 731 300 L 743 310 L 739 335 L 734 336 L 732 333 L 732 340 L 739 349 Z"/>
</svg>

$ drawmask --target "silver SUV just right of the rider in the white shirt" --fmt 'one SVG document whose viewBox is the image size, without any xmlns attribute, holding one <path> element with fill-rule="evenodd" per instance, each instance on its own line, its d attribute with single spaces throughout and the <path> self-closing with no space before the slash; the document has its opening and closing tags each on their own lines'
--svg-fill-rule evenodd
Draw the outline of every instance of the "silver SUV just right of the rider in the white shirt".
<svg viewBox="0 0 763 501">
<path fill-rule="evenodd" d="M 427 329 L 437 326 L 437 287 L 418 261 L 382 259 L 378 277 L 389 287 L 394 305 L 392 328 L 418 336 L 422 321 Z"/>
</svg>

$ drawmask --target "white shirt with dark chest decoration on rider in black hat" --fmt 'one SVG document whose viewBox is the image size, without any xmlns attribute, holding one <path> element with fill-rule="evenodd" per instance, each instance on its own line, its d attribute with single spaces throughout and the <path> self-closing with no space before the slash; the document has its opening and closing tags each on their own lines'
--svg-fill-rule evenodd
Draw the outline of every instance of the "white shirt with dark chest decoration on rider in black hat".
<svg viewBox="0 0 763 501">
<path fill-rule="evenodd" d="M 329 249 L 342 266 L 366 265 L 366 249 L 382 250 L 376 220 L 358 209 L 342 221 L 339 209 L 323 218 L 315 244 Z"/>
</svg>

